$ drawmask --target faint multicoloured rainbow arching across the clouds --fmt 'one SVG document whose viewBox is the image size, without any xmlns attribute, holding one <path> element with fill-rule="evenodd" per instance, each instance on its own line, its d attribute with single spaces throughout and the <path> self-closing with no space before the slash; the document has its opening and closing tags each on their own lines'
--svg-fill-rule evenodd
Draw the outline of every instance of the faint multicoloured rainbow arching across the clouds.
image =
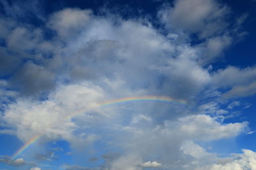
<svg viewBox="0 0 256 170">
<path fill-rule="evenodd" d="M 125 97 L 115 100 L 106 101 L 103 103 L 98 103 L 97 106 L 109 106 L 112 104 L 118 104 L 118 103 L 131 103 L 136 101 L 150 101 L 150 102 L 163 102 L 163 103 L 175 103 L 175 104 L 187 104 L 184 100 L 178 100 L 173 99 L 172 97 L 166 97 L 166 96 L 143 96 L 143 97 Z M 75 115 L 84 113 L 84 111 L 79 111 L 76 113 L 73 113 L 71 117 L 74 117 Z M 70 118 L 68 116 L 67 118 Z M 12 159 L 16 159 L 22 152 L 24 152 L 29 146 L 31 146 L 33 143 L 35 143 L 42 135 L 37 135 L 34 138 L 30 139 L 27 143 L 24 144 L 15 154 L 13 155 Z"/>
</svg>

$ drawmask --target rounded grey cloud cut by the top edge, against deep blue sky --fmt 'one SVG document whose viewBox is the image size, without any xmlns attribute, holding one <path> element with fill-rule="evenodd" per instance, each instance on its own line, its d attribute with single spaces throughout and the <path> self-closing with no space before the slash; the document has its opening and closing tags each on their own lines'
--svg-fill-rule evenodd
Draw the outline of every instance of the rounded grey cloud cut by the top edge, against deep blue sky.
<svg viewBox="0 0 256 170">
<path fill-rule="evenodd" d="M 230 12 L 216 1 L 177 0 L 173 8 L 165 11 L 164 22 L 168 27 L 188 32 L 199 32 L 202 38 L 219 34 L 227 27 L 225 16 Z"/>
</svg>

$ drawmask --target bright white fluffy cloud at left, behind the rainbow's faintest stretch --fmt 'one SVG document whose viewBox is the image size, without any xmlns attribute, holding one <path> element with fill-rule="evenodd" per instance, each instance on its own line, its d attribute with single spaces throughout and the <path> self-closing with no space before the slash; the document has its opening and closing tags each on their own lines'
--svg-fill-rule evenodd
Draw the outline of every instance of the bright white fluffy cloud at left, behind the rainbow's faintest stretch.
<svg viewBox="0 0 256 170">
<path fill-rule="evenodd" d="M 49 138 L 72 139 L 72 132 L 77 129 L 72 122 L 83 111 L 92 110 L 93 106 L 102 97 L 99 87 L 90 85 L 69 85 L 60 87 L 45 101 L 20 100 L 17 104 L 10 104 L 4 119 L 17 130 L 17 136 L 23 141 L 35 135 L 46 135 Z M 31 102 L 33 105 L 31 105 Z M 97 106 L 97 104 L 96 104 Z M 93 136 L 80 136 L 90 141 Z M 74 139 L 75 140 L 75 139 Z M 78 142 L 78 141 L 77 141 Z"/>
</svg>

